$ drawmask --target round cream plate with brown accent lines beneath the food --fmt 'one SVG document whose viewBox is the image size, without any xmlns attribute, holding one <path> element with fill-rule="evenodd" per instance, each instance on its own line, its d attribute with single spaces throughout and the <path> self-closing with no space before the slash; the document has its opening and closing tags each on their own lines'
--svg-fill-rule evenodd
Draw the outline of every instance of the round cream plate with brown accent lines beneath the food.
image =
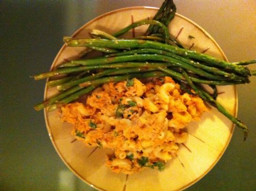
<svg viewBox="0 0 256 191">
<path fill-rule="evenodd" d="M 78 29 L 73 37 L 90 38 L 92 29 L 114 33 L 130 25 L 133 21 L 153 17 L 157 12 L 151 7 L 130 7 L 114 10 L 91 20 Z M 205 52 L 219 59 L 227 60 L 214 39 L 193 21 L 182 15 L 176 15 L 171 23 L 170 32 L 185 44 L 187 49 Z M 124 37 L 131 38 L 142 34 L 147 26 L 135 28 Z M 192 36 L 194 38 L 189 38 Z M 77 57 L 83 48 L 63 46 L 52 64 L 57 64 L 72 57 Z M 218 101 L 230 111 L 237 114 L 237 94 L 234 86 L 218 87 Z M 45 88 L 45 98 L 56 93 L 55 88 Z M 99 190 L 182 190 L 206 175 L 226 150 L 234 126 L 216 109 L 211 109 L 202 116 L 201 121 L 192 122 L 188 127 L 189 138 L 180 145 L 177 158 L 169 161 L 163 172 L 150 168 L 133 175 L 112 173 L 105 166 L 105 155 L 111 151 L 86 148 L 80 141 L 74 141 L 70 132 L 72 127 L 63 123 L 57 111 L 45 112 L 47 129 L 55 149 L 70 170 L 83 181 Z"/>
</svg>

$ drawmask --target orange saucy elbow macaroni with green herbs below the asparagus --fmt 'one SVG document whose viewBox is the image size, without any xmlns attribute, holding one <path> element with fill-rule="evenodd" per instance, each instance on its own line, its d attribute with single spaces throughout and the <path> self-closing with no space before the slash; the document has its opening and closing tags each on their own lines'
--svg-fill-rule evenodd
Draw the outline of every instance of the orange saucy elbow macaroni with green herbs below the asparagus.
<svg viewBox="0 0 256 191">
<path fill-rule="evenodd" d="M 182 92 L 170 77 L 133 80 L 129 87 L 126 82 L 104 84 L 86 104 L 61 108 L 77 139 L 114 150 L 106 165 L 116 173 L 131 174 L 172 159 L 187 140 L 184 128 L 207 111 L 199 97 Z"/>
</svg>

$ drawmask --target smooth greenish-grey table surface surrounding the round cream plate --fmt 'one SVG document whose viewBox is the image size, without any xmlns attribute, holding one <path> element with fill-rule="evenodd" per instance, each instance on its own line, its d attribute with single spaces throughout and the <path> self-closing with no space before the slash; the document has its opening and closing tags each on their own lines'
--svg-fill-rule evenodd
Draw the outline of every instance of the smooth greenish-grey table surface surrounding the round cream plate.
<svg viewBox="0 0 256 191">
<path fill-rule="evenodd" d="M 44 81 L 29 77 L 47 71 L 70 36 L 92 18 L 130 6 L 163 1 L 2 1 L 1 2 L 1 189 L 94 190 L 74 176 L 51 144 L 43 112 L 33 109 Z M 229 61 L 256 58 L 256 1 L 175 1 L 182 14 L 210 33 Z M 256 65 L 250 68 L 256 70 Z M 256 77 L 238 85 L 240 129 L 216 166 L 186 190 L 253 190 L 256 187 Z"/>
</svg>

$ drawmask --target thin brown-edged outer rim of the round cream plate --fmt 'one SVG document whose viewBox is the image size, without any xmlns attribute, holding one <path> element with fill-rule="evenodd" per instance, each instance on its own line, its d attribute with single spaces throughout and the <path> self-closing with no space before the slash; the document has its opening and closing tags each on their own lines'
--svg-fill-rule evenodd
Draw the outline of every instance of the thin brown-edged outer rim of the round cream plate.
<svg viewBox="0 0 256 191">
<path fill-rule="evenodd" d="M 105 16 L 108 16 L 108 15 L 111 15 L 113 13 L 118 13 L 118 12 L 122 12 L 124 10 L 129 10 L 129 9 L 154 9 L 154 10 L 158 10 L 159 8 L 157 7 L 151 7 L 151 6 L 132 6 L 132 7 L 124 7 L 124 8 L 119 8 L 119 9 L 114 9 L 114 10 L 111 10 L 110 12 L 106 12 L 104 14 L 101 14 L 91 20 L 89 20 L 87 23 L 85 23 L 84 25 L 82 25 L 79 29 L 77 29 L 72 35 L 71 37 L 74 37 L 76 36 L 83 28 L 85 28 L 86 26 L 90 25 L 91 23 L 93 23 L 94 21 L 97 21 L 99 20 L 100 18 L 102 17 L 105 17 Z M 218 48 L 218 50 L 220 51 L 221 53 L 221 56 L 223 58 L 223 60 L 225 61 L 228 61 L 225 53 L 222 51 L 222 49 L 220 48 L 219 44 L 216 42 L 216 40 L 204 29 L 202 28 L 201 26 L 199 26 L 197 23 L 195 23 L 195 21 L 185 17 L 184 15 L 181 15 L 179 13 L 175 13 L 175 16 L 178 16 L 186 21 L 188 21 L 189 23 L 193 24 L 194 26 L 196 26 L 198 29 L 200 29 L 212 42 L 214 42 L 215 46 Z M 50 71 L 52 69 L 54 69 L 55 67 L 55 64 L 56 64 L 56 61 L 58 60 L 61 52 L 63 51 L 63 49 L 65 49 L 66 47 L 66 43 L 63 44 L 63 46 L 59 49 L 57 55 L 55 56 L 55 59 L 54 61 L 51 63 L 51 67 L 50 67 Z M 47 78 L 46 82 L 49 80 L 49 78 Z M 234 117 L 237 117 L 237 114 L 238 114 L 238 93 L 237 93 L 237 86 L 236 85 L 232 85 L 233 89 L 234 89 L 234 99 L 235 99 L 235 104 L 234 104 L 234 111 L 233 111 L 233 116 Z M 46 97 L 47 97 L 47 90 L 48 90 L 48 86 L 47 84 L 45 84 L 45 88 L 44 88 L 44 100 L 46 100 Z M 78 172 L 76 172 L 76 170 L 74 170 L 70 165 L 69 163 L 65 160 L 65 158 L 63 157 L 63 155 L 61 154 L 61 152 L 59 151 L 56 143 L 55 143 L 55 140 L 54 140 L 54 136 L 52 135 L 51 133 L 51 129 L 50 129 L 50 125 L 49 125 L 49 121 L 48 121 L 48 117 L 47 117 L 47 110 L 46 108 L 44 108 L 44 118 L 45 118 L 45 123 L 46 123 L 46 127 L 47 127 L 47 131 L 48 131 L 48 136 L 51 140 L 51 143 L 54 145 L 54 148 L 56 150 L 56 152 L 58 153 L 59 157 L 61 158 L 62 162 L 65 163 L 65 165 L 69 168 L 69 170 L 72 171 L 72 173 L 74 173 L 77 177 L 79 177 L 81 179 L 81 181 L 83 181 L 84 183 L 86 183 L 87 185 L 95 188 L 95 189 L 98 189 L 98 190 L 102 190 L 102 191 L 105 191 L 105 189 L 103 188 L 100 188 L 100 187 L 97 187 L 93 184 L 91 184 L 90 182 L 88 182 L 86 179 L 84 179 Z M 214 166 L 218 163 L 218 161 L 220 160 L 220 158 L 222 157 L 223 153 L 225 153 L 226 149 L 228 148 L 228 145 L 231 141 L 231 138 L 233 136 L 233 132 L 234 132 L 234 128 L 235 125 L 234 123 L 232 124 L 232 127 L 230 128 L 230 135 L 229 135 L 229 138 L 227 139 L 227 142 L 225 144 L 225 147 L 223 148 L 223 150 L 220 152 L 220 154 L 218 155 L 218 158 L 216 158 L 216 160 L 214 161 L 214 163 L 212 163 L 208 169 L 203 173 L 201 174 L 199 177 L 197 177 L 196 179 L 194 179 L 193 181 L 191 181 L 190 183 L 188 183 L 187 185 L 181 187 L 180 189 L 177 189 L 177 190 L 184 190 L 192 185 L 194 185 L 195 183 L 197 183 L 198 181 L 200 181 L 200 179 L 202 177 L 204 177 L 205 175 L 207 175 L 209 173 L 209 171 L 212 170 L 212 168 L 214 168 Z"/>
</svg>

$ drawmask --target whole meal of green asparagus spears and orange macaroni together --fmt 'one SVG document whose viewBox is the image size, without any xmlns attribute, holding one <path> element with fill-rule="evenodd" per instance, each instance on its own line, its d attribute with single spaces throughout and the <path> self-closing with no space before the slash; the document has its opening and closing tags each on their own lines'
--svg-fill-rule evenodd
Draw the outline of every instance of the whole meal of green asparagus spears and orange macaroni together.
<svg viewBox="0 0 256 191">
<path fill-rule="evenodd" d="M 90 39 L 64 37 L 66 46 L 86 48 L 81 58 L 63 60 L 52 71 L 34 76 L 48 78 L 47 86 L 59 91 L 34 108 L 61 108 L 77 139 L 89 147 L 113 149 L 106 164 L 114 172 L 163 170 L 186 141 L 188 123 L 207 111 L 205 104 L 241 128 L 244 140 L 248 136 L 247 126 L 217 101 L 217 86 L 249 83 L 256 71 L 245 65 L 256 60 L 227 62 L 185 49 L 169 33 L 175 12 L 173 1 L 165 0 L 153 19 L 112 35 L 93 29 Z M 150 25 L 144 35 L 120 38 L 141 25 Z M 95 52 L 100 55 L 87 57 Z M 86 103 L 77 102 L 84 95 Z"/>
</svg>

